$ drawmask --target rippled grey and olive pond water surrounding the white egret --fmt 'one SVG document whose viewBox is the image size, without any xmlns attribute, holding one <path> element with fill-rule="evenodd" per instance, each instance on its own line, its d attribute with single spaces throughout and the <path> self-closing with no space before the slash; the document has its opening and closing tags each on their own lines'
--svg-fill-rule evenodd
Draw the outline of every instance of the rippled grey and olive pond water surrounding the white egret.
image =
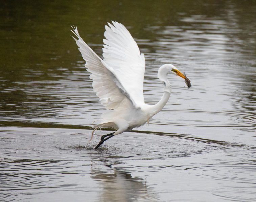
<svg viewBox="0 0 256 202">
<path fill-rule="evenodd" d="M 255 1 L 6 1 L 0 8 L 0 201 L 256 201 Z M 149 126 L 93 148 L 104 107 L 70 25 L 101 56 L 124 24 L 145 54 Z"/>
</svg>

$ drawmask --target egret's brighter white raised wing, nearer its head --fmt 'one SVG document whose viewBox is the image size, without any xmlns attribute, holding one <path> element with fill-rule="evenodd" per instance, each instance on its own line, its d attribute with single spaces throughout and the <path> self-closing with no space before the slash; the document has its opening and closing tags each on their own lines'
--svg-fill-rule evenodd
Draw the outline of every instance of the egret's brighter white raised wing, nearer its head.
<svg viewBox="0 0 256 202">
<path fill-rule="evenodd" d="M 145 73 L 144 54 L 129 31 L 118 22 L 105 26 L 103 61 L 113 68 L 116 77 L 129 94 L 136 107 L 143 105 L 143 81 Z"/>
</svg>

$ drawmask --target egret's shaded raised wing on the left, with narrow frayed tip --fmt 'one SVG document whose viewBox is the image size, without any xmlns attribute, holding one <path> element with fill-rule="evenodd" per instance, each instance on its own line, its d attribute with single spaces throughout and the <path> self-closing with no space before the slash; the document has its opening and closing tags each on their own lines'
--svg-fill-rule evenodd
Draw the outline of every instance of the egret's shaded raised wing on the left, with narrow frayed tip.
<svg viewBox="0 0 256 202">
<path fill-rule="evenodd" d="M 77 28 L 73 28 L 73 33 L 78 49 L 83 59 L 86 61 L 85 67 L 91 72 L 90 78 L 93 80 L 92 87 L 96 95 L 100 98 L 101 104 L 106 109 L 115 109 L 122 104 L 132 104 L 131 98 L 125 92 L 119 80 L 113 73 L 113 69 L 108 67 L 105 62 L 93 52 L 93 50 L 80 37 Z"/>
</svg>

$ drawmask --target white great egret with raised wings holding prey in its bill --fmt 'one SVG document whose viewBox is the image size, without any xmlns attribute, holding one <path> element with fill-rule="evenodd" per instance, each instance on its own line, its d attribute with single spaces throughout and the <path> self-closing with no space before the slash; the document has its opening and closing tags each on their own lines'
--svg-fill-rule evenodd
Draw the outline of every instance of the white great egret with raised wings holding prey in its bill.
<svg viewBox="0 0 256 202">
<path fill-rule="evenodd" d="M 113 24 L 113 25 L 112 25 Z M 102 135 L 97 149 L 107 139 L 144 125 L 157 114 L 167 103 L 171 94 L 171 84 L 168 73 L 173 73 L 185 79 L 190 87 L 189 79 L 171 64 L 162 65 L 158 70 L 158 78 L 164 85 L 164 95 L 155 105 L 144 102 L 143 79 L 145 72 L 144 54 L 140 54 L 137 43 L 129 31 L 118 22 L 105 26 L 102 60 L 80 37 L 77 27 L 71 30 L 83 59 L 85 67 L 91 73 L 92 87 L 100 98 L 101 104 L 108 111 L 102 115 L 101 122 L 93 126 L 97 128 L 114 128 L 115 132 Z M 112 110 L 110 110 L 112 109 Z M 91 141 L 89 140 L 89 142 Z"/>
</svg>

